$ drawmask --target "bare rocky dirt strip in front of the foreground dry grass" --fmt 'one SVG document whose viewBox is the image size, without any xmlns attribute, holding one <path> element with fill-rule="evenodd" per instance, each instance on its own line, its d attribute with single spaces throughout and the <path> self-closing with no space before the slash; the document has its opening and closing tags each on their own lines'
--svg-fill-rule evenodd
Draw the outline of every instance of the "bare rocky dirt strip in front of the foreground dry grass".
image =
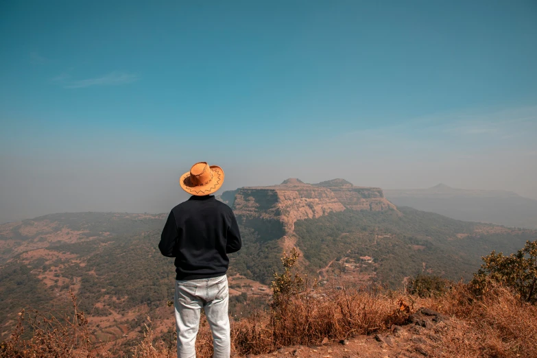
<svg viewBox="0 0 537 358">
<path fill-rule="evenodd" d="M 321 346 L 284 347 L 271 354 L 247 358 L 447 357 L 435 342 L 456 325 L 451 318 L 423 308 L 410 315 L 407 324 L 394 326 L 386 333 L 357 335 L 339 342 L 324 339 Z"/>
</svg>

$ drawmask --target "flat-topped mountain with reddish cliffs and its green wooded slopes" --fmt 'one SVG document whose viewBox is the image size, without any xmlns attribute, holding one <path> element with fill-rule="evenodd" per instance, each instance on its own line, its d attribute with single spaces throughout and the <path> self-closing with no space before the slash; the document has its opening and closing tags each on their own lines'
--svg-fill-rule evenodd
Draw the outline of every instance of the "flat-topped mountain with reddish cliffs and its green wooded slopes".
<svg viewBox="0 0 537 358">
<path fill-rule="evenodd" d="M 444 185 L 435 189 L 446 190 Z M 219 199 L 233 208 L 245 238 L 232 259 L 233 270 L 263 283 L 279 267 L 282 250 L 291 247 L 302 253 L 302 269 L 319 279 L 338 265 L 347 267 L 348 276 L 392 287 L 420 272 L 469 279 L 481 256 L 513 252 L 535 235 L 396 207 L 381 189 L 343 179 L 318 184 L 288 179 L 272 187 L 227 191 Z M 366 256 L 372 262 L 355 270 Z"/>
</svg>

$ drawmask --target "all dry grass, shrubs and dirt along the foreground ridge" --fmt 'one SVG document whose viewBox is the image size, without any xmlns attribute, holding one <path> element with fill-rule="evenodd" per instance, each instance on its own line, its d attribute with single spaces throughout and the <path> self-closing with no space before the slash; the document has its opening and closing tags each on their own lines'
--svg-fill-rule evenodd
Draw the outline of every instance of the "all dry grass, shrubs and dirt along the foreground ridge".
<svg viewBox="0 0 537 358">
<path fill-rule="evenodd" d="M 537 241 L 527 242 L 503 265 L 509 277 L 529 275 L 537 280 Z M 522 256 L 520 256 L 522 253 Z M 422 295 L 357 287 L 318 287 L 294 272 L 296 250 L 282 257 L 283 270 L 274 274 L 270 309 L 250 312 L 232 322 L 232 352 L 262 357 L 535 357 L 537 307 L 518 293 L 515 281 L 494 274 L 490 254 L 468 284 L 449 283 L 443 291 Z M 488 273 L 487 273 L 488 272 Z M 36 311 L 19 314 L 11 338 L 0 347 L 0 357 L 108 357 L 106 344 L 91 337 L 88 318 L 77 307 L 63 317 Z M 25 322 L 33 335 L 23 340 Z M 28 324 L 26 324 L 28 326 Z M 339 344 L 331 344 L 339 342 Z M 196 342 L 200 358 L 211 357 L 212 339 L 204 316 Z M 268 355 L 269 353 L 272 353 Z M 146 322 L 144 339 L 121 355 L 169 358 L 176 356 L 173 336 L 155 331 Z"/>
</svg>

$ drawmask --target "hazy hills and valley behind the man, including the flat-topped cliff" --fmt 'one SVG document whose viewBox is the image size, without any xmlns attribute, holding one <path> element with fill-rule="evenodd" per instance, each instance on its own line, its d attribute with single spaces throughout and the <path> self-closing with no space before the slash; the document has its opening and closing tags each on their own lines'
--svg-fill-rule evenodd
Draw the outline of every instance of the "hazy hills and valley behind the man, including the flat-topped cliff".
<svg viewBox="0 0 537 358">
<path fill-rule="evenodd" d="M 225 191 L 243 248 L 230 255 L 230 310 L 265 305 L 281 254 L 301 253 L 298 267 L 322 285 L 378 282 L 401 287 L 420 273 L 468 280 L 481 256 L 515 252 L 537 232 L 450 219 L 396 207 L 379 188 L 343 179 Z M 21 307 L 66 307 L 71 289 L 91 315 L 93 336 L 123 345 L 154 329 L 174 329 L 174 263 L 158 241 L 167 214 L 62 213 L 0 225 L 0 340 Z"/>
</svg>

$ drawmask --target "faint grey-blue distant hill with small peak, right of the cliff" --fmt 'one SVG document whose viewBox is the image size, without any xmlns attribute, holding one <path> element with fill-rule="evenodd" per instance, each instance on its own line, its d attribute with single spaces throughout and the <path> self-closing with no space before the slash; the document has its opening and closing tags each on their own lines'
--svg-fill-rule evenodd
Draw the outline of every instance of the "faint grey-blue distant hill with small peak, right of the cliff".
<svg viewBox="0 0 537 358">
<path fill-rule="evenodd" d="M 455 189 L 438 184 L 429 189 L 385 190 L 397 206 L 410 206 L 453 219 L 537 228 L 537 200 L 512 191 Z"/>
</svg>

